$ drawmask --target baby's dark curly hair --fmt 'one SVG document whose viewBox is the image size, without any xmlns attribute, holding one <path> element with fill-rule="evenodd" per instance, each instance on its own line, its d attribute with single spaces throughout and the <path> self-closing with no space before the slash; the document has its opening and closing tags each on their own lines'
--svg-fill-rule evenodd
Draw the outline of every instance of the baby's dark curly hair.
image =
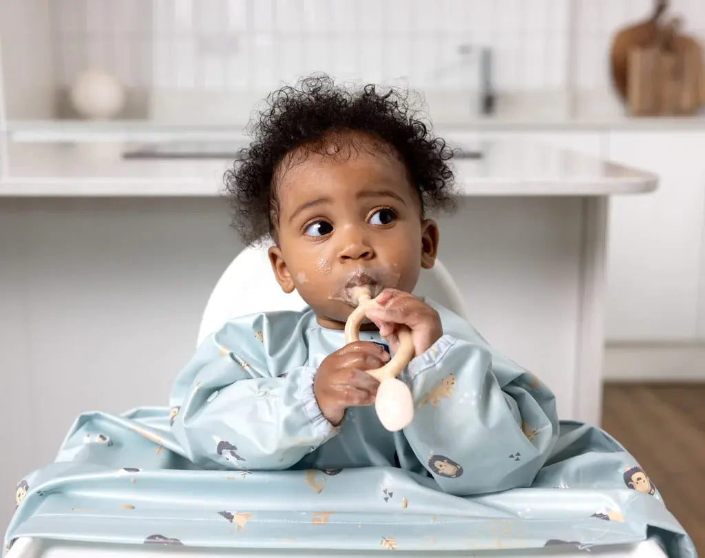
<svg viewBox="0 0 705 558">
<path fill-rule="evenodd" d="M 241 150 L 225 174 L 226 195 L 233 208 L 232 226 L 246 245 L 274 236 L 278 219 L 276 171 L 284 157 L 304 147 L 324 152 L 331 135 L 358 132 L 381 140 L 403 162 L 416 187 L 422 215 L 453 207 L 453 150 L 410 107 L 403 90 L 365 85 L 352 90 L 327 75 L 302 78 L 266 99 L 266 109 L 250 123 L 254 140 Z M 382 147 L 384 149 L 384 147 Z"/>
</svg>

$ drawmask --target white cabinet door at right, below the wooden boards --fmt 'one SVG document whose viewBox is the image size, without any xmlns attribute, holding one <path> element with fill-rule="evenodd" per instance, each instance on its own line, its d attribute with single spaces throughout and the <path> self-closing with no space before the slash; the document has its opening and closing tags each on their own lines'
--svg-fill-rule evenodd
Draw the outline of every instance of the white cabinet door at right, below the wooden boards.
<svg viewBox="0 0 705 558">
<path fill-rule="evenodd" d="M 656 193 L 615 196 L 608 246 L 610 340 L 697 336 L 705 133 L 613 132 L 608 157 L 654 171 Z"/>
</svg>

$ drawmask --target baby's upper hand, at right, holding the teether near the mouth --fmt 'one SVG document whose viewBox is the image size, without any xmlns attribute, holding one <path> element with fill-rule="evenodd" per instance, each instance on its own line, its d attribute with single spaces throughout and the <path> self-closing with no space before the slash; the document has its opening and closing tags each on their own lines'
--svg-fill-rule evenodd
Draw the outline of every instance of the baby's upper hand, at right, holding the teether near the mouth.
<svg viewBox="0 0 705 558">
<path fill-rule="evenodd" d="M 384 289 L 369 305 L 367 317 L 379 327 L 379 334 L 389 341 L 393 353 L 399 346 L 396 333 L 399 324 L 411 329 L 416 356 L 424 353 L 443 335 L 439 313 L 419 298 L 405 291 Z"/>
</svg>

